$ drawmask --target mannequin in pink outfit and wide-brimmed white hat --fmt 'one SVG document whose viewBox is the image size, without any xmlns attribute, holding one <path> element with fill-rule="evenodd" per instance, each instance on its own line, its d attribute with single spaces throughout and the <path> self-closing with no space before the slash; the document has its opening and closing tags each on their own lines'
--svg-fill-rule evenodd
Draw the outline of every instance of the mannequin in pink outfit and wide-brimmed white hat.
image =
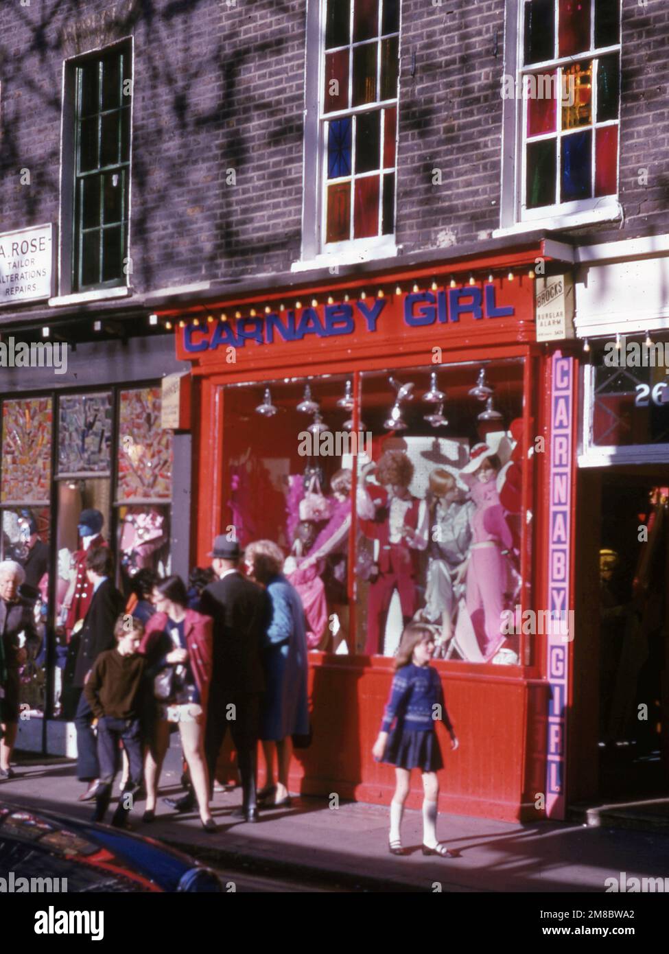
<svg viewBox="0 0 669 954">
<path fill-rule="evenodd" d="M 496 477 L 499 457 L 487 444 L 471 448 L 470 463 L 460 477 L 470 487 L 475 506 L 471 519 L 470 561 L 465 602 L 476 641 L 486 662 L 504 642 L 501 633 L 508 568 L 505 550 L 512 548 L 512 533 L 499 502 Z"/>
</svg>

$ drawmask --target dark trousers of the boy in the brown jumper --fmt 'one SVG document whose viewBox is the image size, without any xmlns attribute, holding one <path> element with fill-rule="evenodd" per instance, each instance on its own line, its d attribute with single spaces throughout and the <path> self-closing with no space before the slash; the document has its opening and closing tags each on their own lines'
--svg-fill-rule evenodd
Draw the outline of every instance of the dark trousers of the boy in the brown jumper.
<svg viewBox="0 0 669 954">
<path fill-rule="evenodd" d="M 130 763 L 128 781 L 121 792 L 114 822 L 127 817 L 133 807 L 132 796 L 138 791 L 142 780 L 142 741 L 139 720 L 102 716 L 97 722 L 97 756 L 100 762 L 100 788 L 95 796 L 94 820 L 101 821 L 112 798 L 114 779 L 118 772 L 119 742 L 125 749 Z"/>
</svg>

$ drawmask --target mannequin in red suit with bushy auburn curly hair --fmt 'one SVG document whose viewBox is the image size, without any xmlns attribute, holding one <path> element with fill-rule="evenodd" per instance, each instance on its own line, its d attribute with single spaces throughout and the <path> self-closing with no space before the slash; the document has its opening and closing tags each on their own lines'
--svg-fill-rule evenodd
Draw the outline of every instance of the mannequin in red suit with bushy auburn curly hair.
<svg viewBox="0 0 669 954">
<path fill-rule="evenodd" d="M 367 465 L 366 474 L 373 465 Z M 383 651 L 386 615 L 392 593 L 397 590 L 404 622 L 416 612 L 417 550 L 425 550 L 428 535 L 423 524 L 428 519 L 425 503 L 408 492 L 413 465 L 402 450 L 387 450 L 376 468 L 381 487 L 366 485 L 374 508 L 371 520 L 360 521 L 360 529 L 379 541 L 378 572 L 370 577 L 367 601 L 368 655 Z M 423 505 L 421 507 L 421 505 Z"/>
</svg>

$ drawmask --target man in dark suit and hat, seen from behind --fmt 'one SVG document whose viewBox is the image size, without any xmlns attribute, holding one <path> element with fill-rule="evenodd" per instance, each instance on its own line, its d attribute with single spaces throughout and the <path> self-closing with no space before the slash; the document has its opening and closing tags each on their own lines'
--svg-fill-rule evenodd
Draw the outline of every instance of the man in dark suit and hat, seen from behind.
<svg viewBox="0 0 669 954">
<path fill-rule="evenodd" d="M 237 749 L 243 793 L 233 818 L 258 821 L 256 749 L 264 688 L 261 644 L 269 623 L 263 590 L 240 573 L 240 545 L 221 534 L 209 554 L 217 579 L 202 592 L 200 612 L 214 619 L 214 660 L 210 683 L 204 752 L 213 786 L 220 746 L 228 726 Z M 178 811 L 195 804 L 192 791 L 166 799 Z"/>
</svg>

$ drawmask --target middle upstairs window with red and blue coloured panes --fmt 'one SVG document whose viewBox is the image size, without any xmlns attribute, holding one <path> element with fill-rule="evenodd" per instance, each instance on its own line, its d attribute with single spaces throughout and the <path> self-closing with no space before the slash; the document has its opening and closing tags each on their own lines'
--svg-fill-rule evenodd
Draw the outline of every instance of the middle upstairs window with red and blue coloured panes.
<svg viewBox="0 0 669 954">
<path fill-rule="evenodd" d="M 325 0 L 322 246 L 395 231 L 400 0 Z"/>
</svg>

